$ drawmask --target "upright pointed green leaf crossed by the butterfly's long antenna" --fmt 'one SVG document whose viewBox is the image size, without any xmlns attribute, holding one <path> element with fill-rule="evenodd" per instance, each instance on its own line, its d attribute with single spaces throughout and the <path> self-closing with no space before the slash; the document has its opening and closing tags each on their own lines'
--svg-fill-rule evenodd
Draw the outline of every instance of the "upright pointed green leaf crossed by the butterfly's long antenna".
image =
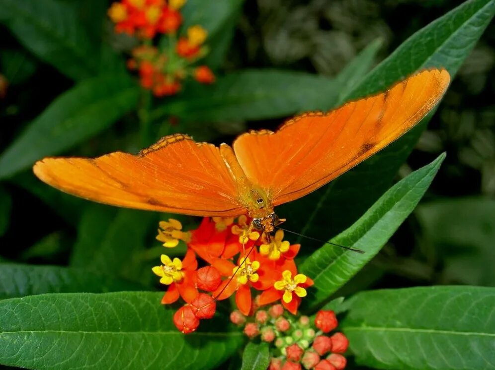
<svg viewBox="0 0 495 370">
<path fill-rule="evenodd" d="M 318 306 L 380 251 L 413 212 L 444 158 L 445 154 L 441 154 L 392 186 L 359 220 L 331 240 L 364 253 L 325 245 L 306 258 L 300 269 L 314 280 L 315 285 L 308 289 L 309 297 L 304 302 L 313 308 Z"/>
</svg>

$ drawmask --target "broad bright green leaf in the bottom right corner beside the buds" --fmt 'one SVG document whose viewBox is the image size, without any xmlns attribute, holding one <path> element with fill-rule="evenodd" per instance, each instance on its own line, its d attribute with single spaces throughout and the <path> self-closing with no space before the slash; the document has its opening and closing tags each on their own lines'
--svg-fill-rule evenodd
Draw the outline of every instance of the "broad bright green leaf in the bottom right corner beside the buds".
<svg viewBox="0 0 495 370">
<path fill-rule="evenodd" d="M 359 293 L 340 323 L 359 364 L 493 369 L 495 289 L 438 286 Z"/>
</svg>

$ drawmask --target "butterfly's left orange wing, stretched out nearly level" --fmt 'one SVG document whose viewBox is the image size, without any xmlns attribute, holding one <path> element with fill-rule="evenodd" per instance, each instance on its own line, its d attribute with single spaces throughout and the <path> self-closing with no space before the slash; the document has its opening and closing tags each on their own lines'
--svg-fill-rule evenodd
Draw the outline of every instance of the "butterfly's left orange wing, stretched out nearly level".
<svg viewBox="0 0 495 370">
<path fill-rule="evenodd" d="M 49 185 L 100 203 L 196 216 L 237 216 L 246 210 L 238 201 L 225 155 L 212 144 L 174 134 L 138 155 L 45 158 L 33 171 Z"/>
</svg>

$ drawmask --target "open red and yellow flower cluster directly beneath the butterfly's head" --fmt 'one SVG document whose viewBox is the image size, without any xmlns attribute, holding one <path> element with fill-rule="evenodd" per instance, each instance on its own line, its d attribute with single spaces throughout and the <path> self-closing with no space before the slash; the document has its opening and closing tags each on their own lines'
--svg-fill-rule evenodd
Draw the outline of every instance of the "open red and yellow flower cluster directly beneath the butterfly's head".
<svg viewBox="0 0 495 370">
<path fill-rule="evenodd" d="M 300 246 L 283 241 L 280 230 L 273 237 L 260 235 L 246 216 L 204 218 L 189 232 L 183 232 L 176 220 L 162 221 L 157 239 L 168 248 L 179 240 L 187 245 L 182 260 L 163 254 L 162 264 L 153 267 L 160 283 L 168 286 L 162 303 L 174 303 L 179 297 L 185 301 L 174 316 L 175 326 L 183 333 L 194 331 L 200 319 L 213 316 L 216 301 L 232 295 L 244 316 L 277 301 L 297 314 L 306 288 L 313 285 L 297 271 L 294 257 Z M 198 259 L 203 267 L 198 268 Z"/>
</svg>

